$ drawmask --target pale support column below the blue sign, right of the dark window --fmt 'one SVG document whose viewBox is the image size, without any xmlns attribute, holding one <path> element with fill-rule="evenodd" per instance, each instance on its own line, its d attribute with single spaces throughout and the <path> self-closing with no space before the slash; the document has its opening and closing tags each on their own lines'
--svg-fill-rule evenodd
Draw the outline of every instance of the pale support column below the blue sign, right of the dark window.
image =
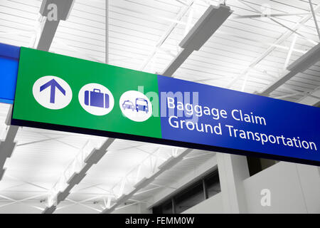
<svg viewBox="0 0 320 228">
<path fill-rule="evenodd" d="M 225 213 L 247 213 L 243 180 L 250 177 L 247 158 L 217 152 L 218 170 Z"/>
</svg>

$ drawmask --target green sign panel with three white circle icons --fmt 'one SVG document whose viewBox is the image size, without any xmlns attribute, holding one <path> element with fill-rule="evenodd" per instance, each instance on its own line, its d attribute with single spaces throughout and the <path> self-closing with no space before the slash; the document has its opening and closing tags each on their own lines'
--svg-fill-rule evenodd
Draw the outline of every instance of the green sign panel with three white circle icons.
<svg viewBox="0 0 320 228">
<path fill-rule="evenodd" d="M 161 138 L 149 91 L 158 93 L 154 74 L 21 48 L 13 123 Z"/>
</svg>

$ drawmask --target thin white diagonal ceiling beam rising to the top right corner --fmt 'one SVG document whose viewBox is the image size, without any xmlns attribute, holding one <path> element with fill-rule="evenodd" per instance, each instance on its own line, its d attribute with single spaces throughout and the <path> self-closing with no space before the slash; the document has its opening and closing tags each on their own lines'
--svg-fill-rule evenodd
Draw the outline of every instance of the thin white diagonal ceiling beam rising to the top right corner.
<svg viewBox="0 0 320 228">
<path fill-rule="evenodd" d="M 315 8 L 314 8 L 314 12 L 318 13 L 320 11 L 320 4 L 318 4 Z M 281 44 L 282 42 L 284 42 L 285 40 L 287 40 L 287 38 L 289 38 L 289 36 L 291 36 L 294 31 L 297 31 L 303 24 L 306 23 L 306 21 L 309 21 L 309 19 L 312 18 L 312 15 L 309 14 L 307 16 L 304 16 L 302 19 L 300 19 L 297 24 L 295 24 L 295 26 L 291 29 L 286 31 L 285 33 L 282 34 L 282 36 L 280 36 L 277 41 L 275 41 L 269 48 L 267 48 L 267 50 L 262 53 L 261 56 L 258 56 L 255 61 L 253 61 L 252 63 L 250 63 L 249 66 L 247 66 L 247 68 L 245 69 L 245 71 L 243 71 L 239 76 L 233 78 L 233 80 L 228 84 L 228 86 L 226 88 L 232 88 L 233 85 L 243 76 L 245 76 L 251 68 L 254 68 L 258 63 L 260 63 L 265 57 L 267 57 L 270 53 L 272 53 L 272 51 L 274 51 L 275 48 L 277 48 L 277 45 Z"/>
</svg>

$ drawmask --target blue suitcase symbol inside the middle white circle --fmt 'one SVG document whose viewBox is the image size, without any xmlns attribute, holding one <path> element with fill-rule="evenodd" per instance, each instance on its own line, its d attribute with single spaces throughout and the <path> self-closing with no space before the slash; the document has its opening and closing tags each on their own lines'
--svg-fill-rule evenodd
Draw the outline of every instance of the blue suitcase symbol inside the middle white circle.
<svg viewBox="0 0 320 228">
<path fill-rule="evenodd" d="M 100 89 L 85 90 L 85 105 L 99 108 L 109 108 L 109 95 L 101 93 Z"/>
</svg>

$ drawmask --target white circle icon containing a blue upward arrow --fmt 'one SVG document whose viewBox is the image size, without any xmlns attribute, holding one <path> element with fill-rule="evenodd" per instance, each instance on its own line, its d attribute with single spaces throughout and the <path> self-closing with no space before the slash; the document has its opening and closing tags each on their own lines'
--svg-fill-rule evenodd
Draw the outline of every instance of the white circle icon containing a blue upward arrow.
<svg viewBox="0 0 320 228">
<path fill-rule="evenodd" d="M 73 98 L 73 91 L 68 83 L 55 76 L 39 78 L 32 88 L 33 97 L 45 108 L 61 109 Z"/>
</svg>

